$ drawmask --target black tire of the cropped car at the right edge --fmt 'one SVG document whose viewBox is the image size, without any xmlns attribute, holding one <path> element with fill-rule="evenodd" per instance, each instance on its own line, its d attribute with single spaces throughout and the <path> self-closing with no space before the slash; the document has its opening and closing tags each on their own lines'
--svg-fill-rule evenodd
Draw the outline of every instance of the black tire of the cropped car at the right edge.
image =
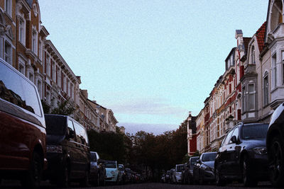
<svg viewBox="0 0 284 189">
<path fill-rule="evenodd" d="M 271 171 L 271 183 L 273 187 L 284 186 L 284 143 L 280 137 L 274 137 L 271 142 L 271 162 L 269 170 Z"/>
</svg>

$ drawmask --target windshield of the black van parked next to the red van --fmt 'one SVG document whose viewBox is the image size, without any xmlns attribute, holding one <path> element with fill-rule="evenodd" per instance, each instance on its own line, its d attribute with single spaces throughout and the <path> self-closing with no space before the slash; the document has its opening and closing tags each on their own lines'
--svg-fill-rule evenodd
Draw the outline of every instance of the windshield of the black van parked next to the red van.
<svg viewBox="0 0 284 189">
<path fill-rule="evenodd" d="M 46 134 L 64 135 L 66 130 L 66 118 L 60 116 L 45 115 Z"/>
</svg>

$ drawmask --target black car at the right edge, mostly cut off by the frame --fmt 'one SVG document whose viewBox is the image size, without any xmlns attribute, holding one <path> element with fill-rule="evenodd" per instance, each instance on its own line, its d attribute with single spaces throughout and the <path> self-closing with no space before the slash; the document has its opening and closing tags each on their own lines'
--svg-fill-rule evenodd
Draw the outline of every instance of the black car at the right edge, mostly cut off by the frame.
<svg viewBox="0 0 284 189">
<path fill-rule="evenodd" d="M 284 187 L 284 103 L 271 116 L 266 135 L 269 171 L 273 187 Z"/>
</svg>

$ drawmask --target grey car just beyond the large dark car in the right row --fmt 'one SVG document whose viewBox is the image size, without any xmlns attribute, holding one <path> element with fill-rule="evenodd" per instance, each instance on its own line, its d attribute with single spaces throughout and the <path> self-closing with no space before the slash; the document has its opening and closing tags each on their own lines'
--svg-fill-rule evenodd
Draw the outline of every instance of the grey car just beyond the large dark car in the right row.
<svg viewBox="0 0 284 189">
<path fill-rule="evenodd" d="M 204 184 L 215 181 L 214 160 L 217 152 L 205 152 L 201 154 L 193 166 L 193 181 L 195 183 Z"/>
</svg>

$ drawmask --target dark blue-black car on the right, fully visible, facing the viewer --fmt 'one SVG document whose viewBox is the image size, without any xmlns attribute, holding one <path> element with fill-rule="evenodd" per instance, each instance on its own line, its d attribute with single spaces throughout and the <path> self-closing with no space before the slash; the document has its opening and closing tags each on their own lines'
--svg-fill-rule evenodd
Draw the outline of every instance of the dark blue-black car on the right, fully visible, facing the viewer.
<svg viewBox="0 0 284 189">
<path fill-rule="evenodd" d="M 267 129 L 268 124 L 241 122 L 226 134 L 214 164 L 217 185 L 243 181 L 254 186 L 268 178 Z"/>
</svg>

